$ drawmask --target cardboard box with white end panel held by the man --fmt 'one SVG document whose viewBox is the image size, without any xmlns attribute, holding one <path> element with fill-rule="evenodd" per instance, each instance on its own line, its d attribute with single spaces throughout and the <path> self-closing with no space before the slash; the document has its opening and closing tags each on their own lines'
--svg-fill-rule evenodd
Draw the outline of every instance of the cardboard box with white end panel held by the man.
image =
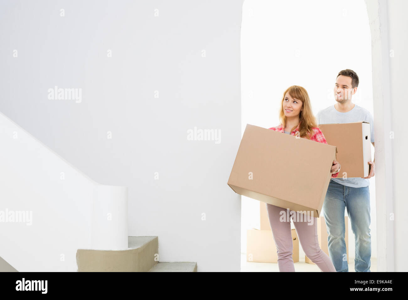
<svg viewBox="0 0 408 300">
<path fill-rule="evenodd" d="M 327 143 L 337 147 L 337 161 L 341 164 L 337 177 L 367 177 L 370 169 L 368 162 L 371 160 L 370 123 L 363 121 L 318 126 Z"/>
</svg>

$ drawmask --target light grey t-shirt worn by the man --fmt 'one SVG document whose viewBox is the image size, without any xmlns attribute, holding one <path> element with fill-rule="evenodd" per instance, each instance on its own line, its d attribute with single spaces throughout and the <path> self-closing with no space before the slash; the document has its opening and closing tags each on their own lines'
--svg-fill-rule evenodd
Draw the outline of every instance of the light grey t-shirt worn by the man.
<svg viewBox="0 0 408 300">
<path fill-rule="evenodd" d="M 335 109 L 334 104 L 326 109 L 322 109 L 316 115 L 318 124 L 333 124 L 333 123 L 352 123 L 368 121 L 370 123 L 371 142 L 374 142 L 374 120 L 371 113 L 355 104 L 352 110 L 346 113 L 341 113 Z M 341 162 L 339 162 L 341 164 Z M 331 178 L 331 180 L 346 185 L 348 187 L 367 187 L 370 185 L 370 180 L 360 177 L 341 178 L 341 169 L 338 175 L 340 178 Z"/>
</svg>

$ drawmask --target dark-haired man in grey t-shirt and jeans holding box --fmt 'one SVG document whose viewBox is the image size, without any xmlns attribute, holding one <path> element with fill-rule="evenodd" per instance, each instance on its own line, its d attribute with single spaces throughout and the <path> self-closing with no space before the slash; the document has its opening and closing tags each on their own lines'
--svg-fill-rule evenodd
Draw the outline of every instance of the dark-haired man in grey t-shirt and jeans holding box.
<svg viewBox="0 0 408 300">
<path fill-rule="evenodd" d="M 334 96 L 336 104 L 317 113 L 318 124 L 370 122 L 371 143 L 374 146 L 374 123 L 370 112 L 351 102 L 356 93 L 359 79 L 350 69 L 342 70 L 336 78 Z M 374 154 L 375 157 L 375 154 Z M 374 159 L 375 161 L 375 159 Z M 341 168 L 341 161 L 340 168 Z M 355 271 L 370 272 L 371 235 L 370 235 L 370 189 L 369 180 L 375 174 L 374 162 L 370 164 L 370 173 L 364 178 L 330 179 L 323 203 L 323 216 L 328 233 L 328 251 L 337 272 L 348 272 L 346 242 L 344 240 L 344 209 L 350 218 L 355 235 Z"/>
</svg>

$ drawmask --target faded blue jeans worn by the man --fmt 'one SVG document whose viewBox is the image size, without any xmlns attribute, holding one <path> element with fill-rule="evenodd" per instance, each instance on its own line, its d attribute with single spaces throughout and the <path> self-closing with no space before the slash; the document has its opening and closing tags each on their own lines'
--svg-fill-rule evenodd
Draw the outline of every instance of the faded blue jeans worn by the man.
<svg viewBox="0 0 408 300">
<path fill-rule="evenodd" d="M 323 216 L 328 234 L 328 251 L 337 272 L 348 272 L 344 240 L 344 209 L 347 208 L 355 237 L 356 272 L 370 272 L 370 190 L 367 187 L 347 187 L 330 180 L 323 203 Z"/>
</svg>

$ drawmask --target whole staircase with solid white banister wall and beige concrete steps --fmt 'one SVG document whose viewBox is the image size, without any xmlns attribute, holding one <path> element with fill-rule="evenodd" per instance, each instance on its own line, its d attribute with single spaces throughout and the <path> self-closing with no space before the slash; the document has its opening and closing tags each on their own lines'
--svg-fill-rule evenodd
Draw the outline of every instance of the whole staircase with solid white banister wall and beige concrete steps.
<svg viewBox="0 0 408 300">
<path fill-rule="evenodd" d="M 159 262 L 157 236 L 128 237 L 127 187 L 93 181 L 2 113 L 0 170 L 0 271 L 197 271 Z"/>
</svg>

